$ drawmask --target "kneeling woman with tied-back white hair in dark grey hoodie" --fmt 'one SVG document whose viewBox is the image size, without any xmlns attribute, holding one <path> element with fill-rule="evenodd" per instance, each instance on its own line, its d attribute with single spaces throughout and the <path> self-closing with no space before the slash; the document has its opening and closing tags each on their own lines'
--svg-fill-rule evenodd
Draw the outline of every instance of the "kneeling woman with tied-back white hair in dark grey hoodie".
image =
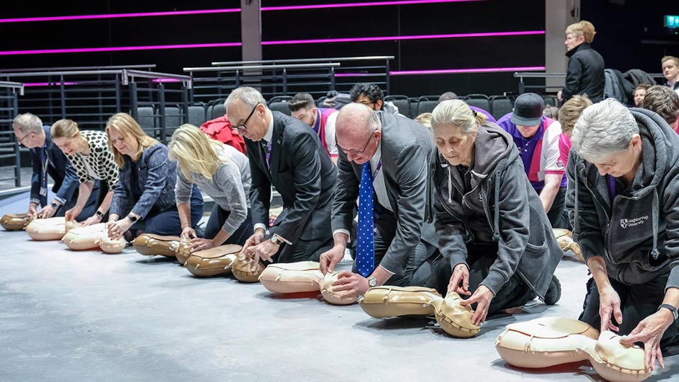
<svg viewBox="0 0 679 382">
<path fill-rule="evenodd" d="M 448 291 L 476 303 L 472 320 L 523 306 L 539 296 L 551 305 L 563 252 L 538 194 L 523 171 L 511 135 L 461 100 L 431 115 L 436 150 L 431 171 L 436 233 L 452 270 Z"/>
</svg>

